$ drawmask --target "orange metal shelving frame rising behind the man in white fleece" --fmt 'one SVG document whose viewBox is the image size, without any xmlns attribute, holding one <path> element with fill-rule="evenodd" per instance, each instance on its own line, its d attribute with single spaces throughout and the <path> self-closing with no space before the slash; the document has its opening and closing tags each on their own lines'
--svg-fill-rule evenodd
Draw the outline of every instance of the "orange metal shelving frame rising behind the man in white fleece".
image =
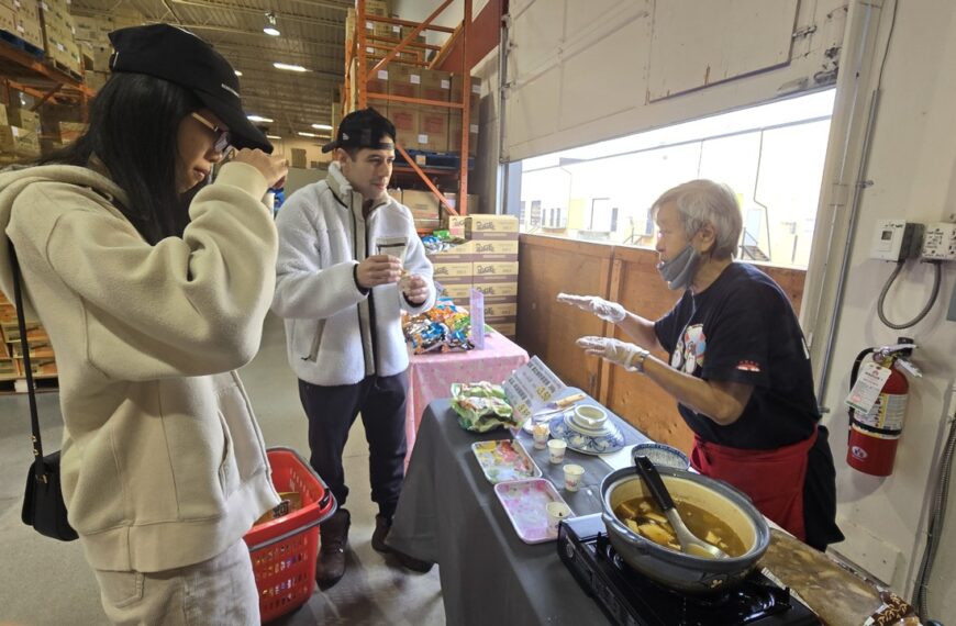
<svg viewBox="0 0 956 626">
<path fill-rule="evenodd" d="M 442 14 L 442 12 L 452 3 L 453 0 L 444 0 L 442 4 L 435 9 L 431 15 L 429 15 L 422 22 L 410 22 L 407 20 L 400 20 L 396 18 L 383 18 L 379 15 L 369 15 L 366 11 L 366 0 L 356 0 L 356 20 L 355 20 L 355 29 L 353 32 L 346 33 L 345 36 L 345 83 L 342 90 L 342 110 L 344 112 L 349 112 L 351 105 L 354 103 L 358 109 L 365 109 L 368 107 L 369 101 L 385 101 L 385 102 L 402 102 L 408 104 L 420 104 L 427 107 L 442 107 L 447 108 L 452 111 L 460 111 L 462 112 L 462 149 L 459 154 L 459 164 L 457 169 L 448 170 L 444 168 L 423 168 L 418 163 L 412 155 L 408 153 L 408 150 L 397 144 L 396 150 L 402 156 L 408 166 L 401 166 L 397 168 L 397 171 L 410 170 L 418 175 L 421 178 L 422 182 L 435 194 L 441 205 L 445 208 L 445 210 L 452 215 L 466 215 L 468 213 L 468 143 L 470 139 L 470 125 L 469 125 L 469 115 L 470 115 L 470 89 L 469 80 L 470 80 L 470 68 L 467 66 L 468 55 L 462 55 L 462 101 L 459 102 L 443 102 L 438 100 L 429 100 L 423 98 L 408 98 L 403 96 L 394 96 L 389 93 L 379 93 L 379 92 L 369 92 L 368 91 L 368 77 L 375 76 L 379 70 L 385 69 L 389 63 L 392 60 L 399 60 L 403 64 L 409 64 L 409 60 L 399 58 L 402 53 L 414 52 L 416 55 L 416 59 L 412 60 L 412 65 L 419 65 L 421 67 L 427 67 L 430 69 L 434 69 L 437 65 L 444 59 L 447 51 L 453 42 L 460 37 L 462 44 L 467 49 L 468 46 L 468 35 L 471 29 L 471 0 L 464 0 L 464 16 L 457 29 L 451 29 L 447 26 L 438 26 L 433 24 L 432 22 Z M 399 25 L 410 27 L 411 31 L 401 40 L 396 40 L 393 37 L 380 37 L 375 34 L 369 35 L 366 33 L 366 23 L 368 22 L 378 22 L 390 25 Z M 419 34 L 424 31 L 437 31 L 449 33 L 452 36 L 446 42 L 445 46 L 435 46 L 423 44 L 421 42 L 415 41 Z M 396 43 L 397 42 L 397 43 Z M 379 55 L 369 55 L 368 51 L 371 48 L 373 51 L 386 51 L 379 58 Z M 426 51 L 435 52 L 435 56 L 431 62 L 425 60 L 424 55 Z M 353 63 L 353 60 L 355 63 Z M 369 60 L 376 60 L 375 66 L 369 67 Z M 356 76 L 352 76 L 352 69 L 355 69 Z M 354 102 L 348 97 L 348 85 L 351 81 L 355 81 L 355 91 L 356 98 Z M 452 202 L 445 198 L 444 193 L 438 190 L 435 183 L 432 181 L 430 176 L 435 177 L 449 177 L 449 179 L 454 179 L 457 182 L 457 204 L 453 205 Z"/>
</svg>

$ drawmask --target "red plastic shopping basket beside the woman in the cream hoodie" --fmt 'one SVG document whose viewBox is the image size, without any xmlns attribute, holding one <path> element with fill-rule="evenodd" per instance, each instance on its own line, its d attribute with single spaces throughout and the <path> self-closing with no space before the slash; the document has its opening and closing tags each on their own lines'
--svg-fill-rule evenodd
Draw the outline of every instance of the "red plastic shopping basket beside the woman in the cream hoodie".
<svg viewBox="0 0 956 626">
<path fill-rule="evenodd" d="M 263 623 L 303 605 L 315 589 L 319 524 L 335 512 L 335 496 L 291 448 L 270 448 L 276 491 L 298 491 L 302 507 L 253 526 L 243 537 L 249 548 Z"/>
</svg>

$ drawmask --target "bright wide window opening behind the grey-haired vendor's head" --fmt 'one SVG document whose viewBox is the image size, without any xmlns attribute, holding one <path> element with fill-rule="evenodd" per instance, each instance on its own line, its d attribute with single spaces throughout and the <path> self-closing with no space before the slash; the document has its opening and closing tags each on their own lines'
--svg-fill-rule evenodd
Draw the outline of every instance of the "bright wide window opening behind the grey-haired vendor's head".
<svg viewBox="0 0 956 626">
<path fill-rule="evenodd" d="M 652 202 L 710 178 L 740 199 L 738 258 L 805 268 L 833 98 L 827 90 L 525 159 L 522 232 L 652 247 Z"/>
</svg>

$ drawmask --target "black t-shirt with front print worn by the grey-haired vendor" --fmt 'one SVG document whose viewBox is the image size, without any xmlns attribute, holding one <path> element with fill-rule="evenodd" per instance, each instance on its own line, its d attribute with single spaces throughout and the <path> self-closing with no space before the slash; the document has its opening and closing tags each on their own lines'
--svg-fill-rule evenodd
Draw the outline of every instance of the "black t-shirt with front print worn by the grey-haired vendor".
<svg viewBox="0 0 956 626">
<path fill-rule="evenodd" d="M 754 266 L 733 262 L 703 292 L 685 292 L 654 329 L 675 369 L 754 387 L 743 414 L 727 426 L 678 404 L 705 441 L 769 450 L 813 432 L 820 412 L 803 332 L 787 295 Z"/>
</svg>

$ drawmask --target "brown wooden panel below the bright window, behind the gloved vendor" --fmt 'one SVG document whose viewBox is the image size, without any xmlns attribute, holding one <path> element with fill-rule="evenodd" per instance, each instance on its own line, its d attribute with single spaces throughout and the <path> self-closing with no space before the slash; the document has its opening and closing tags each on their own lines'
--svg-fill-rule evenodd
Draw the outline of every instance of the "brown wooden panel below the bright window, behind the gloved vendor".
<svg viewBox="0 0 956 626">
<path fill-rule="evenodd" d="M 651 320 L 680 298 L 657 273 L 657 253 L 648 248 L 521 235 L 518 279 L 518 343 L 555 373 L 579 387 L 652 439 L 689 451 L 690 429 L 674 399 L 646 378 L 588 357 L 575 346 L 583 335 L 627 337 L 578 309 L 558 304 L 560 292 L 600 295 Z M 762 266 L 799 311 L 805 272 Z M 649 347 L 649 346 L 645 346 Z M 664 353 L 656 356 L 668 359 Z"/>
</svg>

